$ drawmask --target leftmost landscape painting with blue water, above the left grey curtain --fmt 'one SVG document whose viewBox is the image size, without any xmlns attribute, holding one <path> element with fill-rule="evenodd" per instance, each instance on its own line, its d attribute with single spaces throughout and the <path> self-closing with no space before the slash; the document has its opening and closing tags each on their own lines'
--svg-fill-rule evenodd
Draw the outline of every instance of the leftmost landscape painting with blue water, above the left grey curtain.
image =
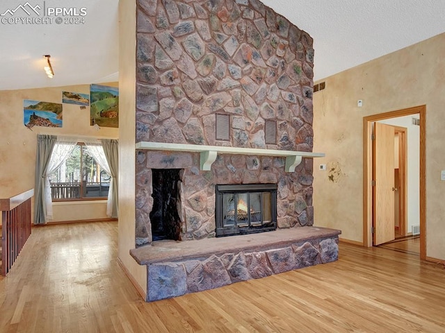
<svg viewBox="0 0 445 333">
<path fill-rule="evenodd" d="M 24 125 L 27 128 L 34 126 L 62 127 L 62 104 L 40 101 L 23 101 Z"/>
</svg>

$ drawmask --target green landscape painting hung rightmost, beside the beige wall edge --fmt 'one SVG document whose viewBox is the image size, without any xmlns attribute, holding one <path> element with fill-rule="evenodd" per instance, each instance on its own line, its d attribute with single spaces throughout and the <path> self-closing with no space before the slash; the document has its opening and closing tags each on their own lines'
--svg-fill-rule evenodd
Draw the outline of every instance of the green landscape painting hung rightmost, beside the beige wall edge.
<svg viewBox="0 0 445 333">
<path fill-rule="evenodd" d="M 90 85 L 90 125 L 119 127 L 119 89 Z"/>
</svg>

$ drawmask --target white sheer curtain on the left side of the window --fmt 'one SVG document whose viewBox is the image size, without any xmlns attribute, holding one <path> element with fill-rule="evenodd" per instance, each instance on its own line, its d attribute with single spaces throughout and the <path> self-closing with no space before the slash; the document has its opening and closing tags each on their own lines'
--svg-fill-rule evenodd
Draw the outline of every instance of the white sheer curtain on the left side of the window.
<svg viewBox="0 0 445 333">
<path fill-rule="evenodd" d="M 53 202 L 51 200 L 51 185 L 49 185 L 49 175 L 56 171 L 58 167 L 70 156 L 70 153 L 77 144 L 77 139 L 70 137 L 58 137 L 54 146 L 51 158 L 49 159 L 48 169 L 44 175 L 44 198 L 47 206 L 47 221 L 53 219 Z"/>
</svg>

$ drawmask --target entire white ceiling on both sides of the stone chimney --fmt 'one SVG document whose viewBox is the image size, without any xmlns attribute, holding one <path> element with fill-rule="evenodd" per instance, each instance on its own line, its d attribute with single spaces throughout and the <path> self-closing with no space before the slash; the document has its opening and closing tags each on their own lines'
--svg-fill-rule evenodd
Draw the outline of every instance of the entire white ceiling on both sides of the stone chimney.
<svg viewBox="0 0 445 333">
<path fill-rule="evenodd" d="M 265 0 L 314 37 L 314 80 L 445 32 L 442 0 Z M 2 0 L 0 15 L 26 1 Z M 118 0 L 29 0 L 86 8 L 84 24 L 0 23 L 0 90 L 118 80 Z M 63 4 L 60 4 L 63 3 Z M 19 9 L 14 16 L 24 16 Z M 6 13 L 3 17 L 11 17 Z M 45 76 L 51 54 L 53 79 Z"/>
</svg>

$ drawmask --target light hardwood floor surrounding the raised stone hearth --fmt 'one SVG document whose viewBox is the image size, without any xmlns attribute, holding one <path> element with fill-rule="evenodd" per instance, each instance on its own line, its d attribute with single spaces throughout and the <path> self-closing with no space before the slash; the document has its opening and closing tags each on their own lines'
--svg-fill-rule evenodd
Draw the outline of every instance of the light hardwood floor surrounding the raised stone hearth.
<svg viewBox="0 0 445 333">
<path fill-rule="evenodd" d="M 117 223 L 33 228 L 0 278 L 0 332 L 445 332 L 445 269 L 340 244 L 339 261 L 146 303 Z"/>
</svg>

